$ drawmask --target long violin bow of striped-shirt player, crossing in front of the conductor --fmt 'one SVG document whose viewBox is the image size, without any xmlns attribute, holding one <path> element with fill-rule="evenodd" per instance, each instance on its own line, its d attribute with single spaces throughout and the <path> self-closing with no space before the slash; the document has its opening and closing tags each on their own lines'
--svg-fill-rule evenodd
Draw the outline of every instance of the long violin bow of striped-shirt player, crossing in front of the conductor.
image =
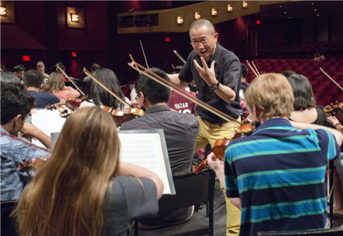
<svg viewBox="0 0 343 236">
<path fill-rule="evenodd" d="M 145 67 L 141 66 L 141 64 L 138 64 L 137 62 L 130 62 L 128 63 L 128 65 L 130 67 L 132 67 L 132 69 L 136 70 L 136 71 L 141 71 L 141 73 L 147 77 L 149 77 L 150 79 L 158 82 L 158 84 L 162 84 L 163 86 L 171 89 L 173 88 L 173 91 L 178 93 L 179 95 L 181 95 L 182 97 L 185 97 L 186 99 L 189 99 L 191 102 L 194 102 L 196 104 L 198 104 L 198 106 L 201 106 L 202 108 L 204 108 L 205 110 L 208 110 L 209 112 L 213 113 L 214 115 L 217 115 L 218 117 L 224 119 L 225 121 L 235 121 L 239 124 L 242 124 L 241 122 L 237 121 L 236 119 L 233 119 L 233 117 L 230 117 L 229 115 L 226 115 L 225 113 L 222 113 L 220 110 L 217 110 L 216 108 L 213 108 L 212 106 L 209 106 L 208 104 L 202 102 L 201 100 L 192 97 L 191 95 L 185 93 L 184 91 L 182 91 L 180 88 L 178 88 L 178 86 L 175 86 L 174 84 L 171 84 L 171 82 L 161 78 L 161 76 L 156 75 L 156 73 L 149 71 L 148 69 L 146 69 Z M 140 67 L 141 69 L 138 69 L 137 67 L 134 67 L 134 65 L 137 65 L 138 67 Z M 148 73 L 146 73 L 145 71 L 148 71 Z M 149 74 L 150 73 L 150 74 Z M 154 75 L 154 76 L 152 76 Z"/>
</svg>

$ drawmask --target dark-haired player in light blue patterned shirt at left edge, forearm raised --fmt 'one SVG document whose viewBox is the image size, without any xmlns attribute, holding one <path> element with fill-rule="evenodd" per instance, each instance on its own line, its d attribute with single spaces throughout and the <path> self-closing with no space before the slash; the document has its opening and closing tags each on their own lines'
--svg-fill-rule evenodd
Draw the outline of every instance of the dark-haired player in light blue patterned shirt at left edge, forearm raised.
<svg viewBox="0 0 343 236">
<path fill-rule="evenodd" d="M 1 82 L 1 201 L 18 200 L 29 176 L 17 171 L 19 163 L 26 158 L 45 158 L 49 150 L 18 139 L 34 137 L 46 147 L 51 147 L 50 138 L 41 130 L 25 123 L 30 110 L 34 108 L 34 98 L 22 84 Z"/>
</svg>

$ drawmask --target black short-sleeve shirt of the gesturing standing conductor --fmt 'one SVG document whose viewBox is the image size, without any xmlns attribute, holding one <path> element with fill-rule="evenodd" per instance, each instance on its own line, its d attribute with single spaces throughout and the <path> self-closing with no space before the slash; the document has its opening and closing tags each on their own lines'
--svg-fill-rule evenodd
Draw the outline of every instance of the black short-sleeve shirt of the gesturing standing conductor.
<svg viewBox="0 0 343 236">
<path fill-rule="evenodd" d="M 198 64 L 202 66 L 200 56 L 195 50 L 191 51 L 187 58 L 187 62 L 180 71 L 178 78 L 185 82 L 196 82 L 196 89 L 198 91 L 198 99 L 202 100 L 206 104 L 217 108 L 217 110 L 226 113 L 230 117 L 237 118 L 241 114 L 241 105 L 239 104 L 239 88 L 241 84 L 241 64 L 237 56 L 232 52 L 224 49 L 217 43 L 215 53 L 211 56 L 211 59 L 206 62 L 208 67 L 211 67 L 211 63 L 215 60 L 215 78 L 224 86 L 233 87 L 236 92 L 235 101 L 228 104 L 222 98 L 220 98 L 215 91 L 211 91 L 211 88 L 202 80 L 199 72 L 194 65 L 193 60 L 196 59 Z M 221 85 L 221 86 L 222 86 Z M 198 106 L 198 115 L 202 117 L 204 121 L 209 123 L 223 123 L 224 119 L 217 117 L 213 113 Z"/>
</svg>

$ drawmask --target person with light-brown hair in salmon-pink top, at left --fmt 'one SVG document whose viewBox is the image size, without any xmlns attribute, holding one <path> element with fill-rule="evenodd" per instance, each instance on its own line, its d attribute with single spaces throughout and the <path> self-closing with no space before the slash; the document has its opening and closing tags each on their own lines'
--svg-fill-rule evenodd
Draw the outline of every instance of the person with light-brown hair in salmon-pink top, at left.
<svg viewBox="0 0 343 236">
<path fill-rule="evenodd" d="M 57 72 L 50 74 L 47 82 L 43 85 L 42 91 L 54 94 L 61 99 L 61 102 L 65 102 L 68 97 L 80 97 L 79 91 L 71 86 L 64 85 L 62 74 Z"/>
</svg>

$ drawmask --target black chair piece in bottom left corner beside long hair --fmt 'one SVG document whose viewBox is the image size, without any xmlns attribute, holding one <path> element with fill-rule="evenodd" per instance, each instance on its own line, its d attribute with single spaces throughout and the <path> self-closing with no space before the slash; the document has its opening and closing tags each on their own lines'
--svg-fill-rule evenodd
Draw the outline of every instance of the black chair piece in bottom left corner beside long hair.
<svg viewBox="0 0 343 236">
<path fill-rule="evenodd" d="M 1 235 L 16 236 L 16 226 L 10 214 L 16 207 L 17 201 L 1 202 Z"/>
</svg>

